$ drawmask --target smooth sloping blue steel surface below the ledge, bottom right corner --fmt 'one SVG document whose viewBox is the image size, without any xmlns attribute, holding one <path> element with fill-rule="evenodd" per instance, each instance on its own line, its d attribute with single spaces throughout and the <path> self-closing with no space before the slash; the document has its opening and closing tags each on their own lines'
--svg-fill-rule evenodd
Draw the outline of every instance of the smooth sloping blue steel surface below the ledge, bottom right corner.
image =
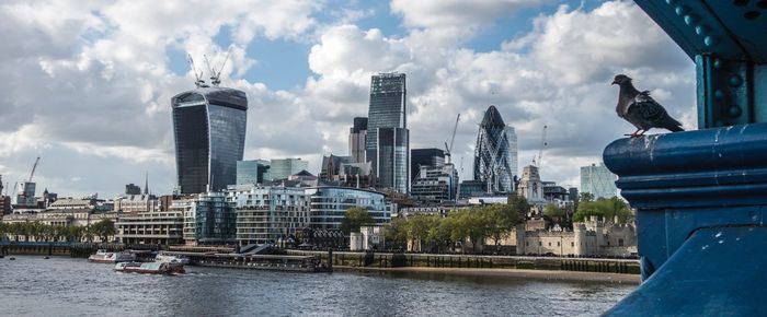
<svg viewBox="0 0 767 317">
<path fill-rule="evenodd" d="M 607 316 L 764 316 L 767 227 L 701 228 Z"/>
</svg>

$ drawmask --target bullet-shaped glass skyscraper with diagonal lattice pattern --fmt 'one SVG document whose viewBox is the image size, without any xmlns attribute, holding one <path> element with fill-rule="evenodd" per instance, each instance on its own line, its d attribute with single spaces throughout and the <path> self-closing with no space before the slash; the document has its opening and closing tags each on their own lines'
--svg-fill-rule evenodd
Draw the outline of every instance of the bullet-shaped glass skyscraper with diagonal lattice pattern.
<svg viewBox="0 0 767 317">
<path fill-rule="evenodd" d="M 514 191 L 514 169 L 506 125 L 495 106 L 484 111 L 474 148 L 474 179 L 488 184 L 490 192 Z"/>
</svg>

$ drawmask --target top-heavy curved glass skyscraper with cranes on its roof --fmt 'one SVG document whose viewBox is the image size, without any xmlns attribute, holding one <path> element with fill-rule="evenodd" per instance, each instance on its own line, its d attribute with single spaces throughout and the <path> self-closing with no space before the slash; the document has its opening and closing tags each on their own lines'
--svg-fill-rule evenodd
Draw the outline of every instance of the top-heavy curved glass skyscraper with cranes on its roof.
<svg viewBox="0 0 767 317">
<path fill-rule="evenodd" d="M 248 97 L 224 87 L 198 87 L 175 95 L 173 136 L 181 193 L 225 189 L 237 183 L 237 161 L 245 146 Z"/>
</svg>

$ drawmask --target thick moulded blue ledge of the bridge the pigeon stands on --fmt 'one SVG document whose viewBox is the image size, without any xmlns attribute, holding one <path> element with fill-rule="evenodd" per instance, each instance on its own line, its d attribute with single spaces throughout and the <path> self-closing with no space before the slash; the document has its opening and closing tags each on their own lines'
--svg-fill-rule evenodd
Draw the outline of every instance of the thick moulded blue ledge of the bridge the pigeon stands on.
<svg viewBox="0 0 767 317">
<path fill-rule="evenodd" d="M 763 221 L 767 124 L 621 139 L 604 160 L 637 209 L 639 254 L 652 268 L 699 227 Z"/>
</svg>

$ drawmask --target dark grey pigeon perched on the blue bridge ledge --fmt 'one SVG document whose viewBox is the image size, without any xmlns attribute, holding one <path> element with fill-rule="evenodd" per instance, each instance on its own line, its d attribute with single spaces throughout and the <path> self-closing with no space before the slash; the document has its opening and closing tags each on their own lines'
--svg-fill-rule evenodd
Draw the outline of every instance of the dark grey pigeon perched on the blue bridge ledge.
<svg viewBox="0 0 767 317">
<path fill-rule="evenodd" d="M 638 91 L 631 84 L 631 78 L 618 74 L 613 80 L 613 84 L 620 86 L 618 106 L 615 109 L 618 117 L 637 127 L 637 131 L 626 136 L 639 138 L 652 128 L 663 128 L 672 132 L 685 130 L 679 121 L 668 116 L 666 109 L 650 96 L 650 91 Z"/>
</svg>

